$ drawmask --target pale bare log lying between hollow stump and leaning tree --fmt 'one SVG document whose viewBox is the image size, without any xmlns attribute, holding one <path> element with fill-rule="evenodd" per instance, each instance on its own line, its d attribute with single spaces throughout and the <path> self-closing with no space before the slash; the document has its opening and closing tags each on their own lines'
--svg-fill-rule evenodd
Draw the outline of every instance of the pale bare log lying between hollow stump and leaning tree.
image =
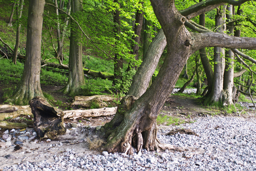
<svg viewBox="0 0 256 171">
<path fill-rule="evenodd" d="M 79 117 L 96 117 L 96 116 L 109 116 L 115 115 L 116 107 L 113 108 L 100 108 L 88 110 L 66 110 L 63 111 L 64 118 L 76 119 Z"/>
</svg>

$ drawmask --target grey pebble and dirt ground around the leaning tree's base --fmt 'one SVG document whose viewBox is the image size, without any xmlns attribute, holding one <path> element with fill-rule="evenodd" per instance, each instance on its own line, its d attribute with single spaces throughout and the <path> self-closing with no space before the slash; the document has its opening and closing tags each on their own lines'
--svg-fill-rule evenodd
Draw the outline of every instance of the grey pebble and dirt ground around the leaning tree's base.
<svg viewBox="0 0 256 171">
<path fill-rule="evenodd" d="M 113 116 L 66 120 L 67 134 L 54 140 L 36 139 L 33 128 L 2 129 L 0 169 L 255 170 L 255 114 L 247 108 L 228 114 L 203 107 L 196 99 L 172 95 L 160 115 L 178 118 L 182 124 L 160 124 L 158 138 L 173 148 L 162 152 L 143 150 L 142 156 L 135 150 L 134 155 L 127 156 L 89 149 L 96 146 L 98 141 L 94 140 L 104 141 L 98 125 L 109 122 Z M 179 130 L 189 130 L 187 133 L 192 134 L 182 134 Z M 170 131 L 174 134 L 166 135 Z"/>
</svg>

